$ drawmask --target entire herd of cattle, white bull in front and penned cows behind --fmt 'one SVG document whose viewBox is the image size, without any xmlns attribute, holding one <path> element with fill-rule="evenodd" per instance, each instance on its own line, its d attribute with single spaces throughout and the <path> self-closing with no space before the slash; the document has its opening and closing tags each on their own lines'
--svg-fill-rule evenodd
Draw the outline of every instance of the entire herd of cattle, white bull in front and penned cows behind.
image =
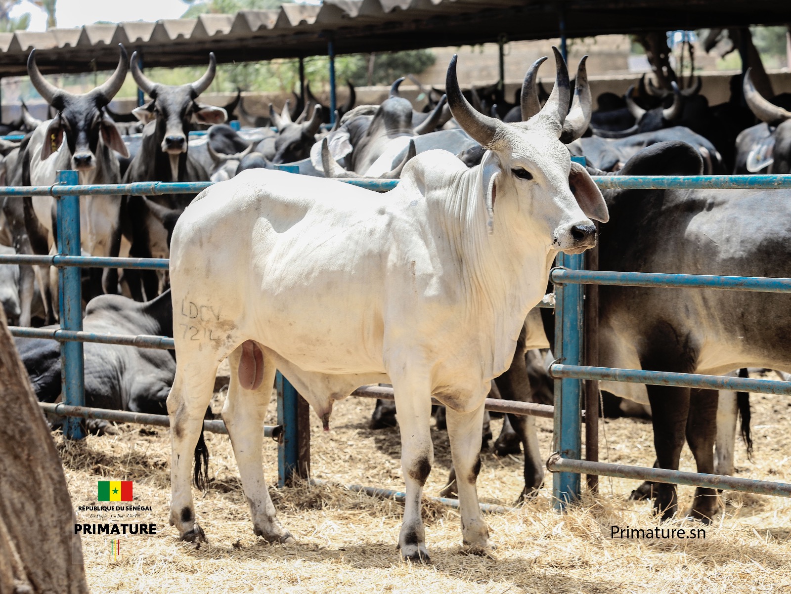
<svg viewBox="0 0 791 594">
<path fill-rule="evenodd" d="M 553 339 L 551 312 L 531 308 L 547 292 L 558 251 L 584 251 L 598 236 L 602 270 L 791 277 L 791 191 L 619 190 L 603 199 L 589 177 L 791 172 L 788 93 L 760 96 L 748 71 L 726 104 L 708 105 L 699 79 L 684 89 L 673 83 L 672 91 L 641 81 L 624 97 L 598 97 L 593 111 L 585 59 L 573 83 L 557 51 L 555 59 L 551 93 L 538 82 L 546 60 L 539 59 L 514 104 L 496 87 L 463 93 L 455 61 L 447 95 L 430 89 L 422 111 L 399 95 L 403 78 L 379 105 L 354 106 L 350 88 L 327 131 L 329 112 L 309 89 L 279 114 L 270 107 L 268 116 L 244 112 L 238 97 L 227 109 L 200 103 L 214 78 L 214 55 L 198 81 L 171 86 L 146 78 L 136 56 L 130 61 L 120 47 L 108 81 L 74 95 L 44 79 L 31 51 L 28 74 L 55 116 L 38 122 L 23 109 L 6 127 L 25 133 L 21 142 L 0 145 L 7 185 L 48 186 L 60 169 L 77 170 L 85 184 L 229 180 L 198 199 L 81 197 L 85 255 L 171 258 L 169 276 L 85 271 L 85 330 L 172 336 L 179 361 L 168 351 L 89 343 L 85 399 L 93 407 L 171 412 L 171 521 L 183 538 L 202 538 L 184 460 L 191 460 L 225 357 L 232 379 L 223 416 L 255 532 L 290 538 L 274 517 L 254 453 L 274 368 L 325 426 L 335 399 L 382 382 L 394 386 L 403 438 L 408 497 L 399 547 L 407 558 L 425 559 L 418 504 L 433 454 L 430 399 L 418 395 L 447 405 L 460 479 L 445 493 L 460 495 L 465 543 L 485 547 L 475 495 L 480 399 L 492 378 L 492 389 L 508 399 L 531 402 L 550 392 L 546 351 L 537 349 Z M 142 134 L 122 134 L 134 127 L 108 108 L 130 69 L 150 98 L 133 112 Z M 232 110 L 259 126 L 234 131 L 225 124 Z M 206 135 L 190 138 L 199 128 Z M 587 157 L 587 170 L 570 164 L 570 154 Z M 286 164 L 303 175 L 271 171 Z M 401 183 L 377 195 L 316 179 L 325 177 Z M 592 219 L 602 222 L 598 231 Z M 53 253 L 56 239 L 54 199 L 3 199 L 3 253 Z M 55 323 L 50 267 L 3 266 L 0 282 L 10 323 Z M 600 365 L 791 373 L 789 299 L 602 287 Z M 16 340 L 39 399 L 55 401 L 57 343 Z M 677 469 L 686 439 L 698 471 L 732 474 L 734 395 L 617 382 L 601 388 L 650 405 L 658 467 Z M 748 404 L 741 411 L 748 418 Z M 388 425 L 395 425 L 395 408 L 377 403 L 372 426 Z M 536 427 L 531 417 L 509 415 L 503 430 L 498 451 L 524 449 L 527 497 L 544 478 Z M 748 437 L 744 422 L 743 431 Z M 676 512 L 675 486 L 647 491 L 663 517 Z M 698 488 L 691 514 L 708 521 L 719 505 L 715 490 Z"/>
</svg>

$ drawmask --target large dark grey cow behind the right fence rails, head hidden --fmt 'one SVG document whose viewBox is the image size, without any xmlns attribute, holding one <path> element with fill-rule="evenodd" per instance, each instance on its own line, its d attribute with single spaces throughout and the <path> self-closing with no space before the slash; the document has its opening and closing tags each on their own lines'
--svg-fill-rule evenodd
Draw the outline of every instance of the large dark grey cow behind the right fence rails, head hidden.
<svg viewBox="0 0 791 594">
<path fill-rule="evenodd" d="M 683 142 L 649 146 L 619 175 L 698 175 Z M 787 190 L 606 191 L 610 222 L 600 268 L 612 271 L 788 277 Z M 717 289 L 600 287 L 600 365 L 681 373 L 791 369 L 791 296 Z M 772 320 L 767 326 L 766 320 Z M 602 390 L 650 403 L 657 464 L 677 469 L 686 436 L 699 472 L 714 471 L 717 392 L 602 382 Z M 676 486 L 655 486 L 655 509 L 676 512 Z M 716 490 L 695 491 L 692 515 L 709 521 Z"/>
</svg>

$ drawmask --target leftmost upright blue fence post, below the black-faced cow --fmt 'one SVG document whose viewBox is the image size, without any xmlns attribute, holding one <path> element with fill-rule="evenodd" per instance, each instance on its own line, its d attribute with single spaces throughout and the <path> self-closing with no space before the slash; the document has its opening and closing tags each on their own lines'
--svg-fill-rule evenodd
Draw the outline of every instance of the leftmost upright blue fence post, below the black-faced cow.
<svg viewBox="0 0 791 594">
<path fill-rule="evenodd" d="M 76 186 L 78 172 L 59 171 L 60 185 Z M 59 255 L 80 255 L 80 197 L 61 196 L 55 200 L 58 214 Z M 60 327 L 63 330 L 82 330 L 81 268 L 59 267 Z M 82 342 L 63 342 L 60 346 L 61 386 L 63 403 L 71 407 L 85 406 L 85 361 Z M 63 433 L 69 439 L 85 437 L 80 419 L 66 418 Z"/>
</svg>

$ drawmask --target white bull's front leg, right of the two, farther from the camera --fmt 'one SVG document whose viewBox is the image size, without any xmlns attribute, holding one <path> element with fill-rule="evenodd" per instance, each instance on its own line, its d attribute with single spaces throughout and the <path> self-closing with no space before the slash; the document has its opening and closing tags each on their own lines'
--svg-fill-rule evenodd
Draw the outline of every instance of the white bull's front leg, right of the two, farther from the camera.
<svg viewBox="0 0 791 594">
<path fill-rule="evenodd" d="M 475 411 L 458 412 L 447 409 L 453 467 L 456 468 L 456 490 L 459 492 L 462 542 L 475 552 L 490 549 L 489 528 L 478 505 L 475 482 L 481 470 L 479 444 L 483 430 L 483 398 Z"/>
</svg>

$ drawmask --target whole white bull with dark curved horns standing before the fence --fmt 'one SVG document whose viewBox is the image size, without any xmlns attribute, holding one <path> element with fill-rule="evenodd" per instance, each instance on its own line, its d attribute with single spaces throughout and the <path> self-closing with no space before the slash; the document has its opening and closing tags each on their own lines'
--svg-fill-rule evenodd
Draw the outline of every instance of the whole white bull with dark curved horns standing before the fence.
<svg viewBox="0 0 791 594">
<path fill-rule="evenodd" d="M 407 501 L 399 548 L 427 561 L 420 516 L 433 461 L 431 397 L 448 408 L 464 543 L 489 546 L 478 505 L 483 403 L 508 369 L 530 308 L 558 251 L 595 244 L 589 217 L 607 207 L 558 140 L 570 91 L 558 80 L 542 112 L 505 124 L 461 95 L 456 59 L 448 104 L 489 152 L 468 169 L 441 150 L 403 169 L 388 195 L 286 172 L 250 170 L 218 183 L 184 211 L 172 236 L 176 379 L 170 522 L 203 538 L 190 490 L 214 376 L 232 370 L 222 415 L 254 531 L 289 542 L 263 478 L 263 419 L 275 369 L 328 426 L 332 404 L 362 384 L 393 385 Z"/>
</svg>

